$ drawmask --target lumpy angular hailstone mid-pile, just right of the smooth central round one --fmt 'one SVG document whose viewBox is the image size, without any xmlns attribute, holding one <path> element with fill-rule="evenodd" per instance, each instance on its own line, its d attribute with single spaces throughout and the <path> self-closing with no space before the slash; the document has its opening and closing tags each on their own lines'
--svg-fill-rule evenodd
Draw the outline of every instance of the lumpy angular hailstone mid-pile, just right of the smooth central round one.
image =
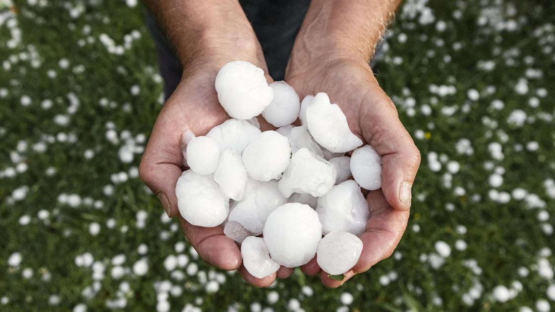
<svg viewBox="0 0 555 312">
<path fill-rule="evenodd" d="M 333 164 L 301 148 L 293 154 L 289 166 L 279 180 L 279 190 L 285 197 L 291 193 L 308 193 L 320 197 L 335 184 L 337 172 Z"/>
</svg>

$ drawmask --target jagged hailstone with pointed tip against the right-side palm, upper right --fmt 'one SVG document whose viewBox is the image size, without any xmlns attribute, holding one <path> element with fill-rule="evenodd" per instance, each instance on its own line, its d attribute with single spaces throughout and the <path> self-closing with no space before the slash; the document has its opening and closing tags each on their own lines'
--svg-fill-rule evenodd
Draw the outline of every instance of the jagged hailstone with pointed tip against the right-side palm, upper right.
<svg viewBox="0 0 555 312">
<path fill-rule="evenodd" d="M 347 118 L 326 93 L 316 94 L 306 108 L 306 125 L 310 134 L 325 149 L 334 153 L 349 152 L 362 144 L 349 129 Z"/>
</svg>

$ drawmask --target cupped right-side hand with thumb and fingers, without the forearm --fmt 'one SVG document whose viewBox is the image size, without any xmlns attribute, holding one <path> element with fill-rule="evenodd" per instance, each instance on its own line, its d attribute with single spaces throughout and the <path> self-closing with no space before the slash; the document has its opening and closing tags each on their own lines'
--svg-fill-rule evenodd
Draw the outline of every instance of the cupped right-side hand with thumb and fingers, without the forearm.
<svg viewBox="0 0 555 312">
<path fill-rule="evenodd" d="M 323 273 L 322 284 L 337 287 L 388 258 L 399 243 L 408 221 L 411 187 L 420 165 L 420 152 L 398 118 L 395 105 L 374 78 L 364 57 L 295 51 L 285 73 L 300 97 L 326 92 L 347 117 L 352 132 L 382 156 L 382 188 L 369 192 L 371 217 L 358 263 L 336 281 Z M 307 275 L 320 272 L 316 259 L 301 267 Z"/>
</svg>

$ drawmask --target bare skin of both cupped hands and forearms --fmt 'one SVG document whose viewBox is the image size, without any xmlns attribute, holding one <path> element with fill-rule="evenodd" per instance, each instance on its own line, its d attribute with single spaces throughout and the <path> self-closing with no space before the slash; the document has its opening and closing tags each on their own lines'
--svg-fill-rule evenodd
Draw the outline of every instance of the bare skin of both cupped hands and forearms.
<svg viewBox="0 0 555 312">
<path fill-rule="evenodd" d="M 377 42 L 399 0 L 313 0 L 296 38 L 285 80 L 300 97 L 329 94 L 340 105 L 352 132 L 382 155 L 382 189 L 370 192 L 371 218 L 359 263 L 342 281 L 320 274 L 322 283 L 337 287 L 355 273 L 368 270 L 390 256 L 405 231 L 410 208 L 410 186 L 420 164 L 420 153 L 398 119 L 390 98 L 380 88 L 368 65 Z M 173 43 L 183 64 L 183 78 L 164 104 L 139 167 L 143 182 L 157 194 L 170 217 L 179 216 L 175 184 L 183 171 L 181 134 L 205 135 L 229 116 L 214 89 L 216 73 L 225 63 L 241 59 L 264 69 L 260 44 L 236 0 L 145 0 Z M 266 76 L 268 82 L 273 80 Z M 273 129 L 258 118 L 261 130 Z M 401 188 L 407 185 L 407 188 Z M 406 190 L 406 192 L 401 192 Z M 405 194 L 403 200 L 400 195 Z M 250 284 L 269 286 L 287 278 L 281 267 L 264 279 L 241 265 L 241 253 L 223 227 L 202 228 L 179 217 L 186 238 L 206 262 L 221 269 L 239 269 Z M 320 273 L 316 259 L 301 268 Z"/>
</svg>

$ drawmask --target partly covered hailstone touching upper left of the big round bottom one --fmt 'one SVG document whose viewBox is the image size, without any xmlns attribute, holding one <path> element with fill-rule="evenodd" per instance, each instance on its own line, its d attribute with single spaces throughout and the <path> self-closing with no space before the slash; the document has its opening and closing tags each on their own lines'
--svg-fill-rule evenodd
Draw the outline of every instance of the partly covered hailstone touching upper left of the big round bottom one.
<svg viewBox="0 0 555 312">
<path fill-rule="evenodd" d="M 228 220 L 243 225 L 252 235 L 260 235 L 268 215 L 286 202 L 278 190 L 278 181 L 249 179 L 245 199 L 233 203 Z"/>
</svg>

